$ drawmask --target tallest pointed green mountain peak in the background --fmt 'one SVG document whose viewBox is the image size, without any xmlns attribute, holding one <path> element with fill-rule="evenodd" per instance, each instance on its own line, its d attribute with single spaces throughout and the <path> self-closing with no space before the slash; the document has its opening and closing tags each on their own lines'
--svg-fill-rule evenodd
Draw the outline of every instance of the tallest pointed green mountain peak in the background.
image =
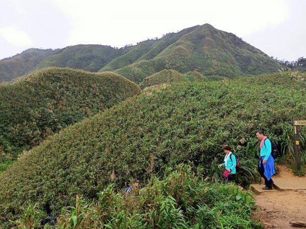
<svg viewBox="0 0 306 229">
<path fill-rule="evenodd" d="M 125 61 L 121 69 L 121 59 L 115 59 L 100 71 L 115 72 L 139 83 L 147 76 L 163 69 L 174 69 L 182 74 L 198 71 L 203 75 L 235 77 L 276 72 L 281 65 L 259 49 L 247 44 L 232 33 L 217 30 L 210 24 L 194 26 L 185 33 L 172 33 L 152 43 L 154 55 L 143 55 L 132 64 Z M 175 39 L 174 39 L 175 37 Z M 171 42 L 169 42 L 171 41 Z M 160 44 L 167 46 L 160 47 Z M 131 51 L 130 51 L 131 52 Z M 127 52 L 125 60 L 134 61 Z"/>
</svg>

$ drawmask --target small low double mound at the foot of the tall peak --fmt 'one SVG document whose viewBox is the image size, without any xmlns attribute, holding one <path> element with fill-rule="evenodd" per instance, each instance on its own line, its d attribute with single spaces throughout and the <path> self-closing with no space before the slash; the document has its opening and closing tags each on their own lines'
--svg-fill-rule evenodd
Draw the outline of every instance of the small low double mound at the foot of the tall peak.
<svg viewBox="0 0 306 229">
<path fill-rule="evenodd" d="M 199 72 L 188 72 L 186 74 L 181 74 L 175 70 L 162 70 L 151 76 L 148 76 L 139 83 L 139 87 L 144 89 L 146 87 L 151 87 L 152 85 L 163 84 L 163 83 L 179 83 L 183 81 L 205 81 L 206 77 Z"/>
</svg>

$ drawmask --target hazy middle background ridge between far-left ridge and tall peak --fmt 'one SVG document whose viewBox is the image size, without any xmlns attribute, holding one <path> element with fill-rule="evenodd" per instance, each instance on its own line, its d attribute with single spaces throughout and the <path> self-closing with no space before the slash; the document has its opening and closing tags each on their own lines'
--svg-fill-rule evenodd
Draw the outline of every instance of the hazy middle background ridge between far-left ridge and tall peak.
<svg viewBox="0 0 306 229">
<path fill-rule="evenodd" d="M 74 45 L 62 49 L 58 54 L 45 58 L 32 71 L 50 66 L 82 69 L 97 72 L 108 62 L 125 53 L 126 49 L 115 49 L 106 45 Z"/>
</svg>

